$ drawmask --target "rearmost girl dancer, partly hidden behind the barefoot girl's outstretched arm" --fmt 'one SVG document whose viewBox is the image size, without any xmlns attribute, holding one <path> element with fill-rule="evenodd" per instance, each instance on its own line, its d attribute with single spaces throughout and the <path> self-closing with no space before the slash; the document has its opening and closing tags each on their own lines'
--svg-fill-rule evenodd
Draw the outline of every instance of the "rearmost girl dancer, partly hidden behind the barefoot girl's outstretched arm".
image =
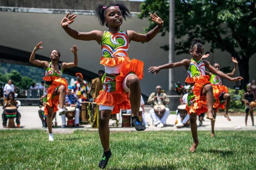
<svg viewBox="0 0 256 170">
<path fill-rule="evenodd" d="M 204 55 L 202 57 L 202 59 L 209 57 L 208 55 Z M 227 76 L 234 76 L 234 74 L 236 73 L 237 70 L 237 66 L 238 66 L 238 62 L 236 61 L 235 57 L 231 57 L 231 60 L 233 63 L 235 63 L 235 66 L 233 68 L 233 71 L 231 73 L 227 73 Z M 217 70 L 220 70 L 220 65 L 215 62 L 212 65 L 214 68 L 216 68 Z M 207 75 L 210 76 L 210 82 L 212 84 L 212 88 L 213 88 L 213 95 L 214 95 L 214 103 L 213 103 L 213 117 L 214 119 L 216 118 L 217 114 L 216 112 L 218 111 L 219 108 L 221 109 L 225 109 L 225 114 L 224 116 L 227 118 L 228 121 L 231 121 L 230 117 L 228 116 L 228 109 L 229 109 L 229 105 L 230 105 L 230 94 L 228 94 L 228 88 L 225 85 L 222 85 L 222 78 L 219 77 L 216 74 L 213 74 L 211 72 L 205 71 L 205 73 Z M 214 132 L 214 125 L 215 122 L 211 122 L 211 126 L 212 126 L 212 134 L 211 136 L 214 137 L 215 136 L 215 132 Z"/>
</svg>

